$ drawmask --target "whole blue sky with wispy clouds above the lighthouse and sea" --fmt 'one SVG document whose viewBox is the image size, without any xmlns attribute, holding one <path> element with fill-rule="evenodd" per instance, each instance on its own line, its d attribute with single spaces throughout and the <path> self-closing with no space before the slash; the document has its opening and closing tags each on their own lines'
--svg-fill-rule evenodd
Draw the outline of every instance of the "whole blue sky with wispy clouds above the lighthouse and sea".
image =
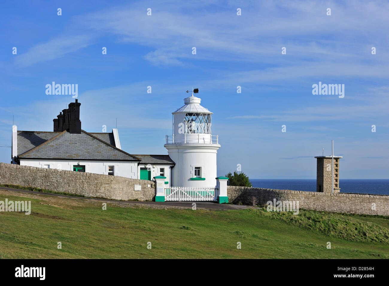
<svg viewBox="0 0 389 286">
<path fill-rule="evenodd" d="M 110 131 L 117 118 L 124 151 L 167 154 L 171 112 L 193 86 L 214 112 L 218 175 L 241 164 L 250 178 L 315 178 L 314 156 L 333 139 L 341 179 L 387 179 L 387 11 L 387 1 L 4 2 L 0 146 L 12 116 L 18 130 L 53 131 L 74 101 L 46 95 L 55 81 L 78 84 L 82 129 Z M 319 81 L 344 84 L 344 98 L 313 95 Z"/>
</svg>

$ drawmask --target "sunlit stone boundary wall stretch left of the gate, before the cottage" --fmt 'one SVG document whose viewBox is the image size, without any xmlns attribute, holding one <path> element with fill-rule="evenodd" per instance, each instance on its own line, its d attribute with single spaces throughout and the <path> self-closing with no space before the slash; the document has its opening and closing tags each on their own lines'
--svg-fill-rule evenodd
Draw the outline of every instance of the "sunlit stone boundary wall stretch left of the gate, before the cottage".
<svg viewBox="0 0 389 286">
<path fill-rule="evenodd" d="M 0 163 L 0 184 L 13 184 L 114 200 L 152 200 L 154 181 Z M 141 191 L 134 191 L 141 184 Z M 147 186 L 150 185 L 150 187 Z"/>
</svg>

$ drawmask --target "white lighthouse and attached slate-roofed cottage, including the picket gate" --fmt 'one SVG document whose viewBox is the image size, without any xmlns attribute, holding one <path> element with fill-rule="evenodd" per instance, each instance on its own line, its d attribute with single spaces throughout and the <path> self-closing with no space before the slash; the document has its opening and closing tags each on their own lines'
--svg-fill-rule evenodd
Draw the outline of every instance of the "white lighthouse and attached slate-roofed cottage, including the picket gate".
<svg viewBox="0 0 389 286">
<path fill-rule="evenodd" d="M 172 135 L 166 135 L 168 155 L 130 154 L 121 149 L 119 133 L 89 133 L 81 129 L 80 103 L 69 104 L 53 119 L 53 132 L 20 131 L 12 126 L 12 163 L 127 177 L 155 179 L 156 201 L 218 200 L 228 178 L 216 178 L 216 154 L 221 147 L 211 133 L 211 116 L 201 99 L 184 99 L 172 112 Z M 213 193 L 212 193 L 213 192 Z M 213 195 L 212 195 L 212 194 Z"/>
</svg>

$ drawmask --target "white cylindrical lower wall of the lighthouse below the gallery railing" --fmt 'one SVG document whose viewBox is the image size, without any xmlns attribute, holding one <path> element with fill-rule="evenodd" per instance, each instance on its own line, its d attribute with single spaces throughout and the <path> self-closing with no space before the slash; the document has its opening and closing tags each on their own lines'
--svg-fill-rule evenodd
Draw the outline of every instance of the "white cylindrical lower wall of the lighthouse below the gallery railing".
<svg viewBox="0 0 389 286">
<path fill-rule="evenodd" d="M 212 187 L 216 186 L 216 154 L 219 144 L 165 144 L 170 158 L 175 162 L 173 186 Z M 204 181 L 191 180 L 195 167 L 201 167 Z"/>
</svg>

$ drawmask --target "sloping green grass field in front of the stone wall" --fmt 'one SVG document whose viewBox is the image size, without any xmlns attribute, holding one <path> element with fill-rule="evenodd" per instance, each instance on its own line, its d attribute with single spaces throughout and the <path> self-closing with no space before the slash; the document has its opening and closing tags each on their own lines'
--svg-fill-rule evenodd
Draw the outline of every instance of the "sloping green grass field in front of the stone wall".
<svg viewBox="0 0 389 286">
<path fill-rule="evenodd" d="M 382 216 L 114 202 L 104 211 L 98 201 L 1 190 L 5 198 L 31 200 L 32 213 L 0 212 L 0 258 L 389 258 Z"/>
</svg>

